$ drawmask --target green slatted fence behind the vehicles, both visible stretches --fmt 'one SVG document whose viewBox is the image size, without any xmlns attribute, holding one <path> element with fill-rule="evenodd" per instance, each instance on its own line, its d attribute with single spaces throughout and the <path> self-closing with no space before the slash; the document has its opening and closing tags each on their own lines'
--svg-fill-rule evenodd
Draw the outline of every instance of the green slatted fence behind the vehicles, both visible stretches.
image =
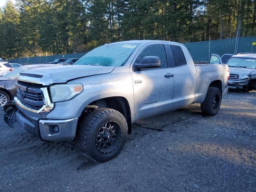
<svg viewBox="0 0 256 192">
<path fill-rule="evenodd" d="M 225 53 L 237 54 L 242 52 L 255 52 L 256 36 L 251 37 L 240 37 L 230 38 L 222 40 L 202 41 L 184 43 L 188 48 L 193 60 L 195 62 L 209 61 L 212 53 L 222 56 Z M 76 53 L 67 55 L 52 55 L 52 56 L 41 56 L 41 57 L 28 57 L 28 58 L 17 58 L 8 60 L 10 63 L 26 64 L 44 64 L 52 62 L 54 59 L 59 58 L 80 58 L 86 53 Z"/>
</svg>

